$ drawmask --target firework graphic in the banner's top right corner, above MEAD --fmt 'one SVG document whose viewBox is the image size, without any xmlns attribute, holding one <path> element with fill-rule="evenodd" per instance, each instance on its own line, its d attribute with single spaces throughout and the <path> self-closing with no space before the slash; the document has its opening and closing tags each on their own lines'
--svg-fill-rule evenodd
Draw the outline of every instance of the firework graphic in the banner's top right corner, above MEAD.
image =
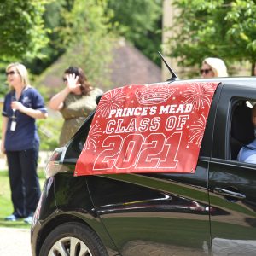
<svg viewBox="0 0 256 256">
<path fill-rule="evenodd" d="M 212 100 L 212 92 L 215 88 L 212 84 L 191 84 L 183 93 L 183 96 L 187 99 L 184 104 L 192 104 L 193 109 L 198 110 L 204 108 L 205 103 L 210 106 Z"/>
</svg>

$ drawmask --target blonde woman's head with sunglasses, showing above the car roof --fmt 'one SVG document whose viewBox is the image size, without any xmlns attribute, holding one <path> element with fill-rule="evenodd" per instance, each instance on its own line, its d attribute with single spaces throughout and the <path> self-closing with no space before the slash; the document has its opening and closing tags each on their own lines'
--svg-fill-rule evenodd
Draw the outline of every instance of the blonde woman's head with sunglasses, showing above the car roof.
<svg viewBox="0 0 256 256">
<path fill-rule="evenodd" d="M 202 61 L 200 73 L 204 79 L 229 76 L 224 61 L 218 58 L 206 58 Z"/>
</svg>

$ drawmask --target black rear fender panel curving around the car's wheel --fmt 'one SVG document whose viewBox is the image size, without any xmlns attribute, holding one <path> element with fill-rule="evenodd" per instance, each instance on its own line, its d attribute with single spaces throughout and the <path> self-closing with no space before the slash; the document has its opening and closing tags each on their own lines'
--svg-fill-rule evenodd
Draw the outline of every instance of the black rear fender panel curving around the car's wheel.
<svg viewBox="0 0 256 256">
<path fill-rule="evenodd" d="M 50 178 L 46 181 L 44 188 L 47 187 L 49 180 Z M 71 221 L 86 224 L 95 230 L 107 247 L 109 256 L 119 255 L 108 232 L 104 229 L 101 219 L 97 216 L 87 189 L 86 177 L 77 179 L 73 177 L 73 172 L 58 173 L 55 175 L 51 187 L 55 191 L 54 199 L 49 196 L 44 197 L 44 203 L 40 207 L 39 222 L 32 229 L 33 255 L 38 255 L 36 252 L 42 246 L 42 242 L 36 242 L 37 239 L 44 241 L 49 232 L 57 225 Z M 47 189 L 44 189 L 44 194 L 46 191 Z M 50 207 L 51 211 L 49 211 L 51 203 L 54 203 L 54 206 Z"/>
</svg>

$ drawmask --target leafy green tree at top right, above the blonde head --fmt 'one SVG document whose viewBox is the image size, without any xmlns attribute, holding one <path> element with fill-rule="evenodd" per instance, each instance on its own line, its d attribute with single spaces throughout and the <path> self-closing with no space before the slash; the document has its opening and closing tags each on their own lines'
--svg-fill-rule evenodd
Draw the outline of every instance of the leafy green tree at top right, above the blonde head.
<svg viewBox="0 0 256 256">
<path fill-rule="evenodd" d="M 172 57 L 182 66 L 201 63 L 207 56 L 256 62 L 255 0 L 175 0 L 178 9 Z"/>
</svg>

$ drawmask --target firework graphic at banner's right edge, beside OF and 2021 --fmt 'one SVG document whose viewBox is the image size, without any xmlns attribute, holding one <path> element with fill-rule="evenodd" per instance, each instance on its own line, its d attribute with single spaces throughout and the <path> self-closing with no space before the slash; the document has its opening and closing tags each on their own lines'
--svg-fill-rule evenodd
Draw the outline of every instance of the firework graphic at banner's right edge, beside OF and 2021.
<svg viewBox="0 0 256 256">
<path fill-rule="evenodd" d="M 189 148 L 191 143 L 195 143 L 195 145 L 200 148 L 206 123 L 207 118 L 203 115 L 203 113 L 201 113 L 201 118 L 195 120 L 195 125 L 190 125 L 189 130 L 192 134 L 189 136 L 189 143 L 187 148 Z"/>
</svg>

